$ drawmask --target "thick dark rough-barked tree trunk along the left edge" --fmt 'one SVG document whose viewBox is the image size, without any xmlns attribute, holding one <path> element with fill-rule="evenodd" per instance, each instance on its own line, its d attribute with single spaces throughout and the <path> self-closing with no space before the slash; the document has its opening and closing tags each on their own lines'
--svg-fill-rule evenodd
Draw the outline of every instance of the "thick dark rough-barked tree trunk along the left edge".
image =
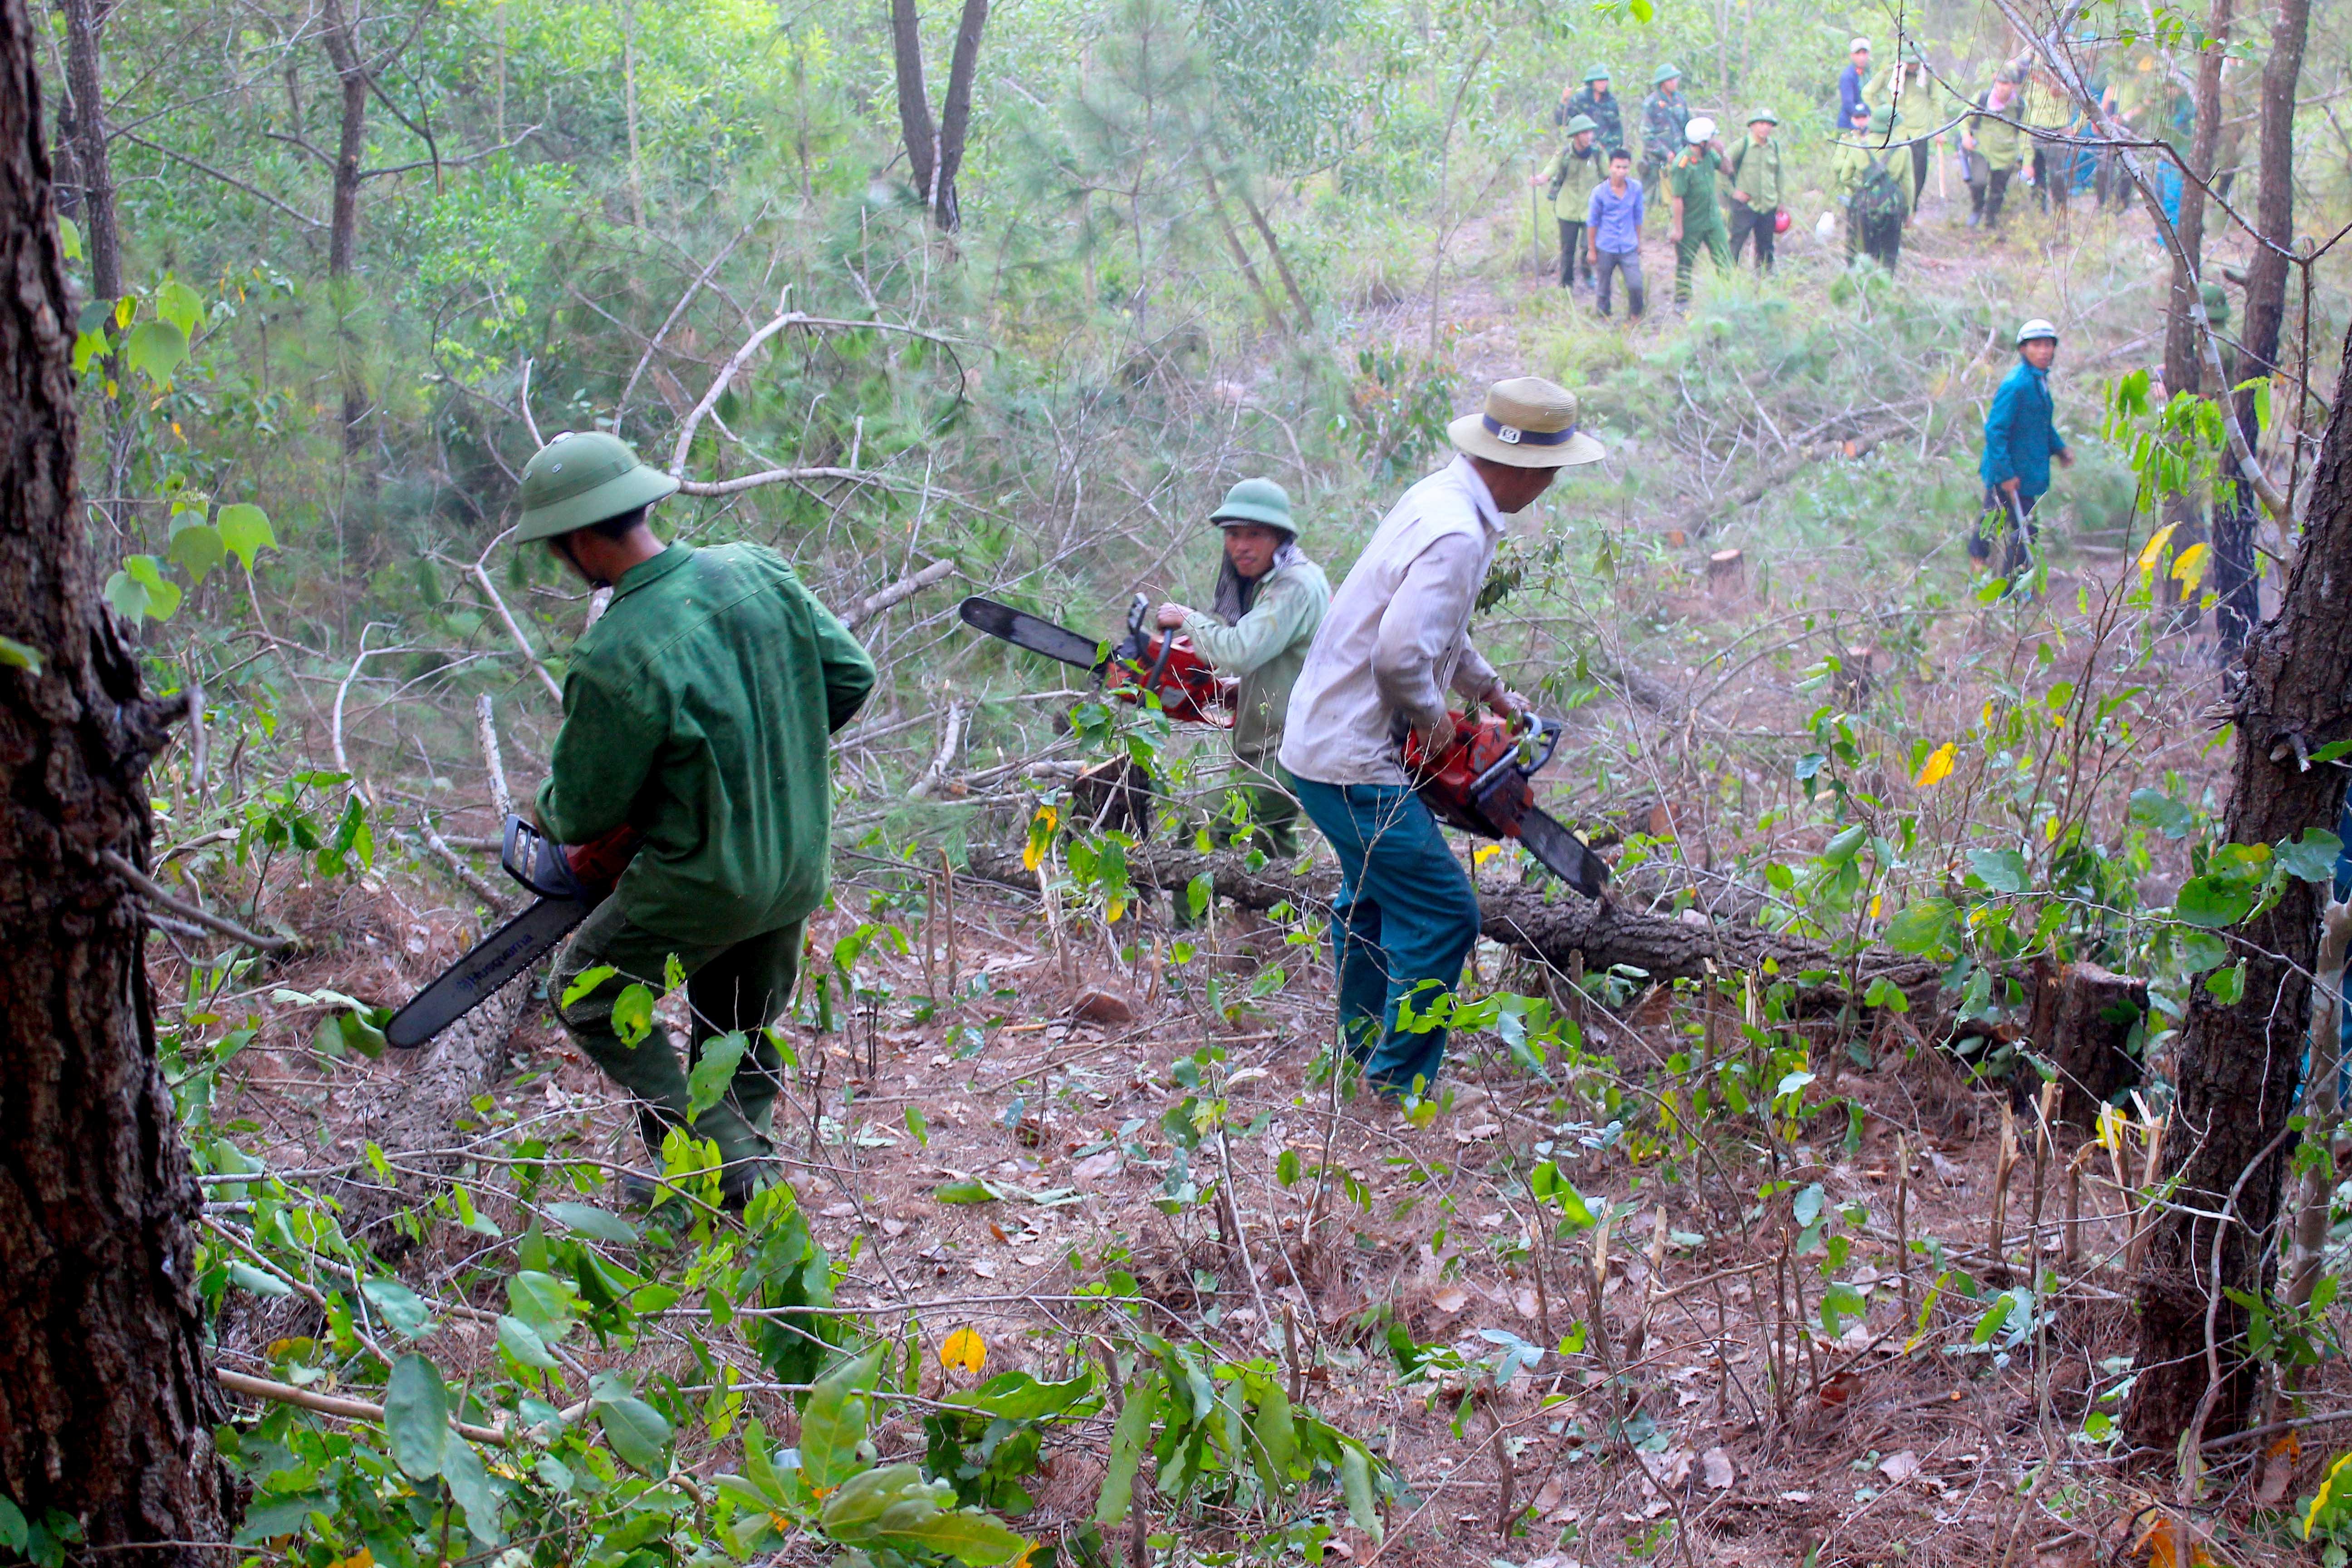
<svg viewBox="0 0 2352 1568">
<path fill-rule="evenodd" d="M 106 1563 L 214 1563 L 216 1396 L 198 1190 L 155 1063 L 143 929 L 148 703 L 73 482 L 73 313 L 24 0 L 0 0 L 0 1493 Z M 31 654 L 21 651 L 28 649 Z M 38 658 L 40 668 L 19 668 Z M 127 1549 L 134 1542 L 174 1542 Z"/>
</svg>

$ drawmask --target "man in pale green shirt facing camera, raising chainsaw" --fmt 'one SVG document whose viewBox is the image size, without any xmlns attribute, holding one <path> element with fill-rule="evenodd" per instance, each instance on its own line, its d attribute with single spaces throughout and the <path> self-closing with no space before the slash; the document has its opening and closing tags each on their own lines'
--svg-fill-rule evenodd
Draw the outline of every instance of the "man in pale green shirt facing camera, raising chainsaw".
<svg viewBox="0 0 2352 1568">
<path fill-rule="evenodd" d="M 1324 607 L 1331 604 L 1331 583 L 1298 548 L 1291 496 L 1272 480 L 1242 480 L 1225 491 L 1225 503 L 1209 512 L 1209 522 L 1225 541 L 1216 597 L 1204 611 L 1162 604 L 1160 625 L 1181 630 L 1209 668 L 1240 682 L 1232 693 L 1235 785 L 1228 802 L 1240 797 L 1249 820 L 1265 835 L 1265 849 L 1296 856 L 1298 799 L 1275 752 L 1282 750 L 1291 684 L 1308 661 Z M 1235 827 L 1228 809 L 1214 837 L 1232 842 Z M 1176 898 L 1181 914 L 1183 893 Z"/>
</svg>

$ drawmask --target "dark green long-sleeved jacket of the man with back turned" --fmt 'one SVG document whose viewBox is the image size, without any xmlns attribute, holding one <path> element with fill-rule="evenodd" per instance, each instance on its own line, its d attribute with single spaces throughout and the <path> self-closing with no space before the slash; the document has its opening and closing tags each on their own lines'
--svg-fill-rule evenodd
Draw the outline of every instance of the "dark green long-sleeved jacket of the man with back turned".
<svg viewBox="0 0 2352 1568">
<path fill-rule="evenodd" d="M 828 736 L 873 658 L 762 545 L 670 545 L 614 585 L 564 675 L 539 825 L 644 832 L 614 893 L 680 943 L 776 931 L 826 898 Z"/>
</svg>

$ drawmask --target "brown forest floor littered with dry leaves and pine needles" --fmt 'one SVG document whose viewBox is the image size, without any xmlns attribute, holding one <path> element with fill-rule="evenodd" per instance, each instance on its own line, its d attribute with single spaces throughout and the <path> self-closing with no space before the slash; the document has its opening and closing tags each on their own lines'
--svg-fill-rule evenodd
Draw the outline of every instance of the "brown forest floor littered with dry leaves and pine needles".
<svg viewBox="0 0 2352 1568">
<path fill-rule="evenodd" d="M 1783 268 L 1828 275 L 1839 256 L 1806 230 L 1799 214 Z M 1458 327 L 1470 383 L 1524 362 L 1519 320 L 1545 287 L 1526 240 L 1524 209 L 1456 240 L 1442 315 Z M 1931 200 L 1905 266 L 1964 287 L 1983 273 L 1976 252 L 1952 207 Z M 1644 261 L 1653 317 L 1637 331 L 1656 336 L 1670 329 L 1672 254 L 1653 240 Z M 1406 336 L 1425 317 L 1428 301 L 1404 301 L 1374 327 Z M 2072 555 L 2049 614 L 2072 614 L 2077 588 L 2096 597 L 2129 567 L 2119 555 Z M 1729 630 L 1757 614 L 1698 592 L 1675 604 Z M 2018 635 L 1987 623 L 1943 632 L 1950 646 Z M 2140 766 L 2211 778 L 2216 759 L 2194 719 L 2213 698 L 2211 661 L 2190 646 L 2154 668 L 2173 689 L 2166 733 Z M 1971 693 L 1922 691 L 1917 701 L 1966 703 Z M 1726 693 L 1724 710 L 1759 731 L 1792 731 L 1806 703 L 1757 677 Z M 477 809 L 447 827 L 487 835 L 494 825 Z M 1009 820 L 993 827 L 1007 839 L 1018 832 Z M 2119 1413 L 2126 1373 L 2117 1359 L 2133 1347 L 2129 1199 L 2105 1180 L 2110 1157 L 2086 1152 L 2079 1128 L 2060 1128 L 2049 1157 L 2034 1159 L 2030 1112 L 2018 1124 L 2025 1157 L 2004 1168 L 2009 1093 L 1971 1088 L 1938 1051 L 1898 1032 L 1813 1032 L 1811 1070 L 1851 1098 L 1851 1119 L 1839 1112 L 1771 1135 L 1755 1119 L 1719 1114 L 1679 1147 L 1630 1140 L 1611 1131 L 1609 1088 L 1635 1098 L 1672 1088 L 1675 1053 L 1740 1048 L 1722 1044 L 1736 1039 L 1736 1018 L 1710 1016 L 1693 992 L 1639 983 L 1578 994 L 1562 976 L 1482 943 L 1475 966 L 1489 985 L 1559 997 L 1585 1048 L 1613 1070 L 1555 1070 L 1548 1084 L 1512 1065 L 1494 1034 L 1475 1032 L 1456 1039 L 1437 1098 L 1402 1112 L 1336 1098 L 1317 1081 L 1331 1020 L 1327 961 L 1263 917 L 1225 910 L 1209 931 L 1178 933 L 1164 903 L 1138 910 L 1120 931 L 1143 957 L 1122 961 L 1108 926 L 1049 922 L 1033 893 L 960 877 L 948 985 L 946 914 L 924 914 L 941 891 L 929 875 L 840 858 L 837 912 L 811 924 L 811 954 L 863 922 L 898 924 L 913 950 L 866 947 L 863 983 L 882 997 L 870 1013 L 830 1034 L 816 1032 L 807 1009 L 788 1020 L 802 1067 L 779 1110 L 802 1206 L 847 1267 L 842 1305 L 870 1309 L 889 1331 L 920 1324 L 927 1394 L 967 1380 L 936 1356 L 962 1326 L 985 1340 L 990 1373 L 1065 1373 L 1101 1333 L 1103 1305 L 1082 1291 L 1124 1272 L 1145 1328 L 1181 1331 L 1235 1359 L 1272 1356 L 1301 1380 L 1308 1406 L 1395 1467 L 1402 1493 L 1383 1542 L 1322 1500 L 1338 1523 L 1331 1549 L 1355 1568 L 2124 1559 L 2169 1568 L 2192 1556 L 2293 1556 L 2281 1516 L 2265 1509 L 2310 1490 L 2328 1460 L 2321 1432 L 2305 1432 L 2303 1446 L 2260 1472 L 2249 1446 L 2216 1450 L 2206 1493 L 2183 1512 L 2161 1512 L 2173 1502 L 2169 1486 L 2143 1486 L 2105 1443 L 2082 1436 L 2093 1410 Z M 219 1105 L 221 1121 L 254 1128 L 254 1152 L 289 1180 L 360 1161 L 367 1124 L 348 1107 L 397 1093 L 419 1070 L 397 1053 L 322 1058 L 310 1048 L 318 1011 L 303 1006 L 308 994 L 400 1001 L 480 931 L 475 898 L 430 863 L 372 877 L 332 905 L 294 905 L 294 919 L 339 947 L 280 966 L 275 1001 L 240 1004 L 266 1013 L 266 1030 L 223 1072 Z M 1190 964 L 1176 959 L 1181 940 L 1200 945 Z M 179 994 L 183 973 L 165 969 L 167 994 Z M 917 1006 L 920 997 L 941 1001 Z M 1223 1051 L 1214 1072 L 1232 1126 L 1249 1131 L 1228 1145 L 1230 1173 L 1192 1168 L 1202 1192 L 1211 1178 L 1228 1187 L 1195 1204 L 1169 1192 L 1162 1117 L 1188 1093 L 1174 1070 L 1209 1046 Z M 529 1133 L 579 1157 L 642 1166 L 623 1103 L 553 1027 L 543 999 L 527 1009 L 506 1058 L 473 1112 L 475 1128 L 452 1131 L 452 1147 Z M 1298 1168 L 1329 1175 L 1284 1182 L 1287 1152 Z M 1597 1234 L 1548 1239 L 1526 1187 L 1543 1159 L 1595 1208 L 1602 1199 L 1618 1206 L 1613 1220 Z M 2084 1175 L 2067 1182 L 2067 1171 Z M 936 1197 L 964 1178 L 1007 1197 Z M 1797 1251 L 1788 1201 L 1759 1199 L 1762 1182 L 1799 1192 L 1818 1182 L 1837 1274 L 1858 1293 L 1835 1328 L 1820 1312 L 1825 1253 Z M 2070 1187 L 2079 1222 L 2065 1234 Z M 508 1234 L 529 1218 L 489 1185 L 475 1201 Z M 616 1194 L 604 1201 L 619 1206 Z M 452 1281 L 477 1246 L 470 1232 L 440 1225 L 405 1251 L 400 1269 L 421 1291 L 461 1293 Z M 2023 1276 L 2027 1258 L 2058 1269 L 2063 1291 L 2044 1314 L 2025 1309 L 1985 1328 L 1994 1293 Z M 1555 1349 L 1571 1324 L 1590 1324 L 1595 1298 L 1606 1333 L 1588 1328 L 1581 1349 Z M 1409 1345 L 1456 1352 L 1458 1366 L 1404 1373 L 1392 1326 Z M 435 1354 L 456 1382 L 492 1345 L 475 1324 L 449 1328 L 454 1342 Z M 233 1309 L 221 1324 L 223 1363 L 266 1371 L 263 1345 L 280 1331 L 268 1309 Z M 1543 1354 L 1496 1387 L 1498 1352 L 1515 1340 Z M 762 1371 L 746 1345 L 710 1335 L 710 1354 L 757 1387 Z M 656 1340 L 635 1361 L 682 1368 L 689 1352 L 682 1340 Z M 2324 1368 L 2312 1394 L 2338 1382 Z M 786 1425 L 781 1406 L 776 1394 L 750 1399 L 771 1427 Z M 922 1434 L 894 1422 L 877 1432 L 877 1448 L 920 1455 Z M 696 1453 L 703 1469 L 734 1467 L 720 1443 Z M 1084 1519 L 1101 1453 L 1094 1427 L 1049 1443 L 1037 1509 L 1016 1523 L 1051 1533 Z M 1214 1509 L 1152 1523 L 1178 1528 L 1183 1544 L 1167 1559 L 1178 1563 L 1216 1561 L 1251 1535 Z M 2161 1526 L 2154 1540 L 2150 1526 Z M 2192 1547 L 2190 1533 L 2204 1540 Z M 1254 1561 L 1279 1556 L 1261 1547 Z"/>
</svg>

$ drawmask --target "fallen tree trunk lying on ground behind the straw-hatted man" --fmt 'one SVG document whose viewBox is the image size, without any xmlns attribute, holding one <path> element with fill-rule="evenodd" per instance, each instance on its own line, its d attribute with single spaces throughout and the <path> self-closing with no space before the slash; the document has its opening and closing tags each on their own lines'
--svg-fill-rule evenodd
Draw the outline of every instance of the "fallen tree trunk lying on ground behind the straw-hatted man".
<svg viewBox="0 0 2352 1568">
<path fill-rule="evenodd" d="M 988 844 L 974 844 L 967 853 L 974 875 L 1035 891 L 1037 875 L 1021 863 L 1018 853 Z M 1131 846 L 1127 875 L 1138 886 L 1171 893 L 1192 886 L 1195 877 L 1209 877 L 1218 898 L 1230 898 L 1247 910 L 1272 910 L 1282 903 L 1327 910 L 1338 891 L 1338 870 L 1329 863 L 1317 863 L 1301 877 L 1272 860 L 1251 870 L 1235 851 L 1204 856 L 1164 844 Z M 1628 964 L 1653 980 L 1700 980 L 1708 973 L 1722 978 L 1755 973 L 1762 980 L 1766 964 L 1771 964 L 1778 969 L 1776 978 L 1825 976 L 1799 985 L 1797 1006 L 1806 1013 L 1837 1011 L 1853 999 L 1853 990 L 1867 992 L 1872 980 L 1882 978 L 1905 994 L 1912 1018 L 1922 1025 L 1938 1013 L 1936 992 L 1943 966 L 1884 947 L 1865 947 L 1856 959 L 1837 959 L 1828 943 L 1804 936 L 1722 919 L 1644 914 L 1618 903 L 1599 905 L 1557 886 L 1489 879 L 1479 884 L 1477 900 L 1484 936 L 1566 973 Z M 1849 990 L 1849 978 L 1853 990 Z"/>
</svg>

